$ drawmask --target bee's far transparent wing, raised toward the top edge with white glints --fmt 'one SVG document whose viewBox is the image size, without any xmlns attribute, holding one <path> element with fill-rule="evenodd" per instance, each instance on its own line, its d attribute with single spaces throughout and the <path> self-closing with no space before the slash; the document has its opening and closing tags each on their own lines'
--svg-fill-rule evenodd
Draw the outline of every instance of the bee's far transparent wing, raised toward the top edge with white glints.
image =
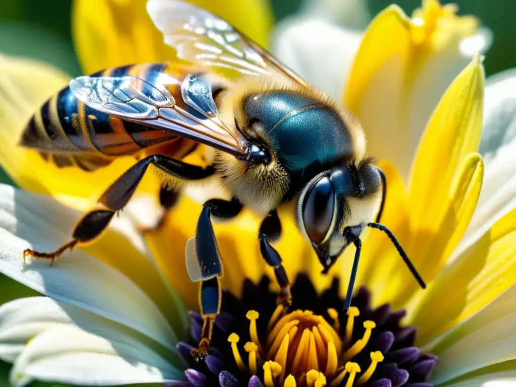
<svg viewBox="0 0 516 387">
<path fill-rule="evenodd" d="M 213 13 L 177 0 L 150 0 L 147 10 L 165 43 L 179 58 L 241 75 L 281 77 L 307 86 L 302 78 Z"/>
</svg>

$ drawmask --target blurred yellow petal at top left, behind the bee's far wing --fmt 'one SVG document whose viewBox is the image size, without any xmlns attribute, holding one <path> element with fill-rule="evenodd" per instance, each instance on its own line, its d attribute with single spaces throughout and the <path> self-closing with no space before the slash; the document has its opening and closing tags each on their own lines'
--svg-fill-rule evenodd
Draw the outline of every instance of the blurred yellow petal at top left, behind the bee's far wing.
<svg viewBox="0 0 516 387">
<path fill-rule="evenodd" d="M 264 0 L 196 0 L 261 45 L 267 44 L 272 12 Z M 163 42 L 146 0 L 75 0 L 75 48 L 86 74 L 131 63 L 166 62 L 174 50 Z"/>
</svg>

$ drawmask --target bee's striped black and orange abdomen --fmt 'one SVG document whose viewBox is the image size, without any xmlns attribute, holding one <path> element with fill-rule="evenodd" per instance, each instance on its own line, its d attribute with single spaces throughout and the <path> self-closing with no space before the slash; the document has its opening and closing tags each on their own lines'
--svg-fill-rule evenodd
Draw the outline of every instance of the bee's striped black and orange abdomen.
<svg viewBox="0 0 516 387">
<path fill-rule="evenodd" d="M 162 63 L 152 63 L 118 67 L 92 76 L 131 75 L 154 84 L 158 78 L 168 77 L 164 69 Z M 176 158 L 195 145 L 165 131 L 107 116 L 78 101 L 68 87 L 35 113 L 20 144 L 38 150 L 58 167 L 76 165 L 88 171 L 108 165 L 117 156 L 137 155 L 158 144 L 162 144 L 160 151 Z"/>
</svg>

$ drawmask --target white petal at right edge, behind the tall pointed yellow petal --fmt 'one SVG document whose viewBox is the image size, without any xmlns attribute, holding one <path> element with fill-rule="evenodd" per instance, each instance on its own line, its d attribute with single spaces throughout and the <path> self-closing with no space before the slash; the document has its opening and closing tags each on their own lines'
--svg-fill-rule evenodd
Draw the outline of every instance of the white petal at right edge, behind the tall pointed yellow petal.
<svg viewBox="0 0 516 387">
<path fill-rule="evenodd" d="M 516 207 L 516 70 L 488 79 L 479 152 L 485 173 L 477 208 L 454 257 Z M 452 258 L 453 259 L 453 258 Z"/>
</svg>

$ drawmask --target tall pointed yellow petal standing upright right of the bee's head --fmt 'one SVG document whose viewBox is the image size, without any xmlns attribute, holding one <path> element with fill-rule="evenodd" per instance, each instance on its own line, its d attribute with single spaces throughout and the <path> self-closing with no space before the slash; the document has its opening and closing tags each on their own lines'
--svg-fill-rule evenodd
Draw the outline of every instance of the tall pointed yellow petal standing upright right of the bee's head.
<svg viewBox="0 0 516 387">
<path fill-rule="evenodd" d="M 436 230 L 457 169 L 478 149 L 483 86 L 484 72 L 477 56 L 446 90 L 428 122 L 409 185 L 411 219 L 416 228 Z"/>
</svg>

